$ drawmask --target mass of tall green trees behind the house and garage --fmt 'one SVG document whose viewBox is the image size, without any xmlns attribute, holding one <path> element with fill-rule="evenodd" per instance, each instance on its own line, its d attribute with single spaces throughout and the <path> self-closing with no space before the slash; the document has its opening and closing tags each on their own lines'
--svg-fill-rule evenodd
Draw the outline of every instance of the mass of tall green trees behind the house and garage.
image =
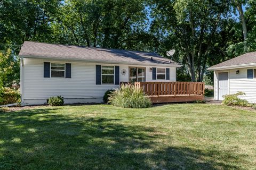
<svg viewBox="0 0 256 170">
<path fill-rule="evenodd" d="M 256 50 L 254 0 L 0 0 L 0 50 L 14 63 L 25 40 L 150 51 L 183 64 L 177 80 L 212 82 L 207 67 Z M 3 46 L 4 45 L 4 46 Z M 7 69 L 0 61 L 1 69 Z M 211 81 L 209 81 L 211 80 Z"/>
</svg>

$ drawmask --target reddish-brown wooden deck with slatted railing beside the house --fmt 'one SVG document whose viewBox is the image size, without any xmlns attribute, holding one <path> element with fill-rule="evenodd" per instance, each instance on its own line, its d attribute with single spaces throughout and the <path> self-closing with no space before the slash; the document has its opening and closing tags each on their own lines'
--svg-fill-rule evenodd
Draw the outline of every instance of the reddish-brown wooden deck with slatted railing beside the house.
<svg viewBox="0 0 256 170">
<path fill-rule="evenodd" d="M 187 102 L 204 99 L 204 82 L 135 82 L 152 103 Z"/>
</svg>

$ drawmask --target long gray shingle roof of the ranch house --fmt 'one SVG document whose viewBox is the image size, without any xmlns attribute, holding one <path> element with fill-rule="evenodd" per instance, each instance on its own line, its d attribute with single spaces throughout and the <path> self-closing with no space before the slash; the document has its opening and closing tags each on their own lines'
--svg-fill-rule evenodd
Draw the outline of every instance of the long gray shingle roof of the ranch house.
<svg viewBox="0 0 256 170">
<path fill-rule="evenodd" d="M 173 65 L 178 63 L 170 61 L 156 53 L 137 52 L 121 49 L 81 47 L 59 44 L 36 43 L 25 41 L 19 56 L 31 58 L 49 58 L 61 60 L 84 60 L 108 63 L 132 63 L 141 65 Z M 151 60 L 153 57 L 153 60 Z"/>
</svg>

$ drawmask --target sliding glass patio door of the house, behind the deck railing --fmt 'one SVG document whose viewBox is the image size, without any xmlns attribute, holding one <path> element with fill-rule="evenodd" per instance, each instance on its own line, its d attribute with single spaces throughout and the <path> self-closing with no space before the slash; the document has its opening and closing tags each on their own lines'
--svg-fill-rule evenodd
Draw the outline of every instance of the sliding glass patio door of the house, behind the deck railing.
<svg viewBox="0 0 256 170">
<path fill-rule="evenodd" d="M 129 81 L 130 82 L 143 82 L 146 80 L 145 68 L 130 67 L 129 68 Z"/>
</svg>

